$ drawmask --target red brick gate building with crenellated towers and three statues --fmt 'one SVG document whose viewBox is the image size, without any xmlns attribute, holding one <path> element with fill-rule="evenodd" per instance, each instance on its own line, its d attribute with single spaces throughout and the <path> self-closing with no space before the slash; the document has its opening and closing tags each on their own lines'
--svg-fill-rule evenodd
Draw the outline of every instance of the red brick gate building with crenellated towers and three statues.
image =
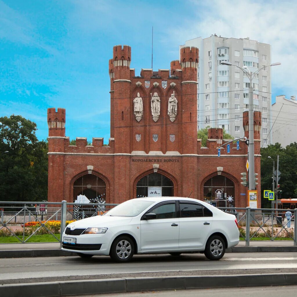
<svg viewBox="0 0 297 297">
<path fill-rule="evenodd" d="M 87 198 L 121 203 L 151 195 L 213 201 L 217 206 L 247 206 L 247 145 L 230 154 L 217 147 L 226 142 L 222 129 L 209 129 L 206 147 L 197 139 L 198 49 L 181 48 L 181 61 L 169 69 L 130 68 L 131 48 L 117 45 L 109 60 L 110 139 L 65 137 L 66 111 L 48 109 L 48 201 Z M 255 114 L 255 152 L 260 150 L 261 113 Z M 248 112 L 243 126 L 248 136 Z M 255 158 L 259 173 L 260 157 Z M 258 186 L 258 193 L 260 187 Z M 225 197 L 231 197 L 226 204 Z M 258 201 L 260 207 L 260 201 Z"/>
</svg>

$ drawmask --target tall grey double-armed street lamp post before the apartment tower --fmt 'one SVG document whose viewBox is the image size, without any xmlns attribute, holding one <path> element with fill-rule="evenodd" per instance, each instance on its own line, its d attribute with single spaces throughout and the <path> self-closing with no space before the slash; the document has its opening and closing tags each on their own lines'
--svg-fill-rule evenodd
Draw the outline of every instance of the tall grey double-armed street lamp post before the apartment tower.
<svg viewBox="0 0 297 297">
<path fill-rule="evenodd" d="M 221 65 L 235 66 L 241 69 L 249 78 L 249 149 L 248 149 L 248 160 L 249 160 L 249 190 L 255 190 L 255 149 L 254 149 L 254 89 L 252 87 L 252 80 L 260 70 L 265 67 L 280 65 L 280 63 L 273 63 L 271 65 L 262 67 L 256 72 L 252 73 L 249 69 L 244 66 L 243 68 L 234 65 L 227 61 L 222 61 Z"/>
</svg>

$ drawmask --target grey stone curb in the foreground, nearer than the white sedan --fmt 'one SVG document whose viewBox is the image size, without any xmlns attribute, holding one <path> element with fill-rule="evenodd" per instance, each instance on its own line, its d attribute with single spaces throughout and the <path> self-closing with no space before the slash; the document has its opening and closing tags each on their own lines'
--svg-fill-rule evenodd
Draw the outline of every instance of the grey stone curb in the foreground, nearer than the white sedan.
<svg viewBox="0 0 297 297">
<path fill-rule="evenodd" d="M 297 285 L 297 273 L 237 274 L 180 277 L 127 277 L 0 286 L 1 296 L 73 296 L 150 290 Z"/>
</svg>

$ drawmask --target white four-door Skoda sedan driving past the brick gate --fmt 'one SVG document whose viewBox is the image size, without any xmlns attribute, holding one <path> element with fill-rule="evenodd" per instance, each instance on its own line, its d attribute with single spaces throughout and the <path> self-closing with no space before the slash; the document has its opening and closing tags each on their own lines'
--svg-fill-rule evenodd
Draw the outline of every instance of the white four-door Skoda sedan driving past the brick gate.
<svg viewBox="0 0 297 297">
<path fill-rule="evenodd" d="M 110 255 L 117 262 L 136 253 L 201 252 L 219 260 L 238 242 L 234 215 L 182 197 L 131 199 L 102 216 L 70 223 L 62 234 L 63 250 L 80 257 Z"/>
</svg>

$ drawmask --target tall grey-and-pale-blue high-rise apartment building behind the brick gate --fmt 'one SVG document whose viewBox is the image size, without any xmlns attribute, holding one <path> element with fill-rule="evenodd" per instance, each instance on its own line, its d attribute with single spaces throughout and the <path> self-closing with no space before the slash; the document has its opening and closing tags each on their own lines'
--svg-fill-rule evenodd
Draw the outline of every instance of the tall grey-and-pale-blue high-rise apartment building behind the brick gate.
<svg viewBox="0 0 297 297">
<path fill-rule="evenodd" d="M 219 127 L 235 138 L 244 136 L 240 123 L 243 111 L 249 108 L 250 80 L 241 69 L 221 65 L 221 62 L 228 61 L 241 68 L 247 66 L 251 72 L 256 72 L 271 64 L 271 46 L 249 38 L 224 38 L 216 34 L 188 40 L 182 46 L 199 49 L 198 129 Z M 268 135 L 271 126 L 270 68 L 260 70 L 252 80 L 254 110 L 262 112 L 261 145 L 264 146 L 271 143 L 271 135 Z"/>
</svg>

